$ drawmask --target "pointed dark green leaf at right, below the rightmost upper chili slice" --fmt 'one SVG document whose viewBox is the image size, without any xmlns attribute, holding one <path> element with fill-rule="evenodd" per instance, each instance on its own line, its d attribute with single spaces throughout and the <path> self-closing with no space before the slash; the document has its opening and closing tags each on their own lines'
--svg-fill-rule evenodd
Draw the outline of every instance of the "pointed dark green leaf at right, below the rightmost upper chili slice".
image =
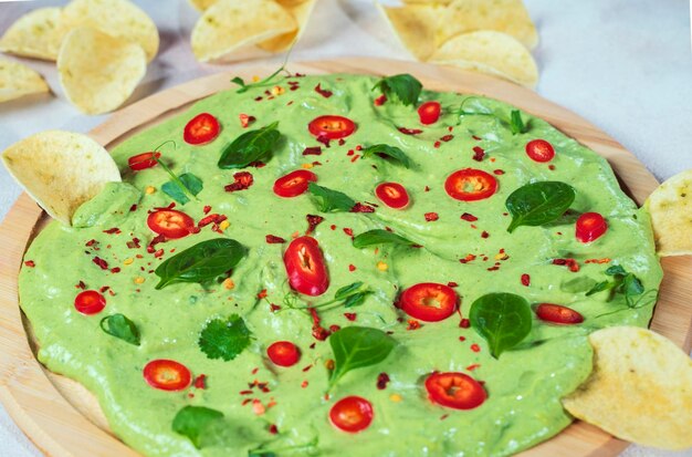
<svg viewBox="0 0 692 457">
<path fill-rule="evenodd" d="M 514 190 L 505 206 L 512 215 L 511 233 L 520 226 L 541 226 L 559 218 L 574 202 L 575 190 L 559 181 L 531 183 Z"/>
</svg>

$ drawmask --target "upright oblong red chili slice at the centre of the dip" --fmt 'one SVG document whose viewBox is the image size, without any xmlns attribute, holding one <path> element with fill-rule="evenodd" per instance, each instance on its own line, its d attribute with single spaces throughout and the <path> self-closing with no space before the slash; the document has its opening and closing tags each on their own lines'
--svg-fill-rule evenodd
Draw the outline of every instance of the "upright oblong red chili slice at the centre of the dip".
<svg viewBox="0 0 692 457">
<path fill-rule="evenodd" d="M 298 237 L 291 241 L 283 257 L 289 283 L 305 295 L 322 295 L 329 287 L 329 276 L 317 240 Z"/>
</svg>

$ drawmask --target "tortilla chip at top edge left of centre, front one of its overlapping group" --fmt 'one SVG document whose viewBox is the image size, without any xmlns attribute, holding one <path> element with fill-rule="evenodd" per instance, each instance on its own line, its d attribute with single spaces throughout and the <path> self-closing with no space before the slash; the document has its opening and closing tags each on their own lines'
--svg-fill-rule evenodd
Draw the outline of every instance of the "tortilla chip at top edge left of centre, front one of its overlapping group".
<svg viewBox="0 0 692 457">
<path fill-rule="evenodd" d="M 219 0 L 192 29 L 200 62 L 228 60 L 233 51 L 295 31 L 293 17 L 272 0 Z"/>
</svg>

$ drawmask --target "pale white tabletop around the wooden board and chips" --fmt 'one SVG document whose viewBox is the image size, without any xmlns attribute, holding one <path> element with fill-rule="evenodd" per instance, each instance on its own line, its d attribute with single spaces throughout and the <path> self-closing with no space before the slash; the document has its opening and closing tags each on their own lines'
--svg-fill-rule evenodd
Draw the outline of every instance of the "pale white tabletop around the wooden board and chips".
<svg viewBox="0 0 692 457">
<path fill-rule="evenodd" d="M 396 1 L 396 0 L 388 0 Z M 232 65 L 199 64 L 189 46 L 198 13 L 186 0 L 135 0 L 161 35 L 157 59 L 132 101 Z M 66 0 L 0 0 L 0 33 L 24 11 Z M 318 0 L 292 59 L 369 55 L 411 60 L 369 0 Z M 686 0 L 526 0 L 541 43 L 537 92 L 591 121 L 631 150 L 659 180 L 692 168 L 692 55 Z M 0 149 L 35 132 L 87 132 L 86 116 L 62 94 L 54 64 L 22 60 L 54 95 L 0 105 Z M 273 58 L 280 62 L 281 58 Z M 0 218 L 20 194 L 0 167 Z M 692 430 L 691 430 L 692 433 Z M 0 457 L 40 457 L 0 405 Z M 622 456 L 692 456 L 630 446 Z"/>
</svg>

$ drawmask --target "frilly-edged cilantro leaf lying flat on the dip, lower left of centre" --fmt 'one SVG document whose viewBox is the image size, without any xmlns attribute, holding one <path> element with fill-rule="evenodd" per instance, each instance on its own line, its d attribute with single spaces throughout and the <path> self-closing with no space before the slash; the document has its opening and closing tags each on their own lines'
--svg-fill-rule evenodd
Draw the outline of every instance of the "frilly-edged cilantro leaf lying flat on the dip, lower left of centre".
<svg viewBox="0 0 692 457">
<path fill-rule="evenodd" d="M 250 330 L 238 314 L 228 320 L 214 319 L 201 331 L 197 344 L 207 357 L 229 362 L 250 345 Z"/>
</svg>

